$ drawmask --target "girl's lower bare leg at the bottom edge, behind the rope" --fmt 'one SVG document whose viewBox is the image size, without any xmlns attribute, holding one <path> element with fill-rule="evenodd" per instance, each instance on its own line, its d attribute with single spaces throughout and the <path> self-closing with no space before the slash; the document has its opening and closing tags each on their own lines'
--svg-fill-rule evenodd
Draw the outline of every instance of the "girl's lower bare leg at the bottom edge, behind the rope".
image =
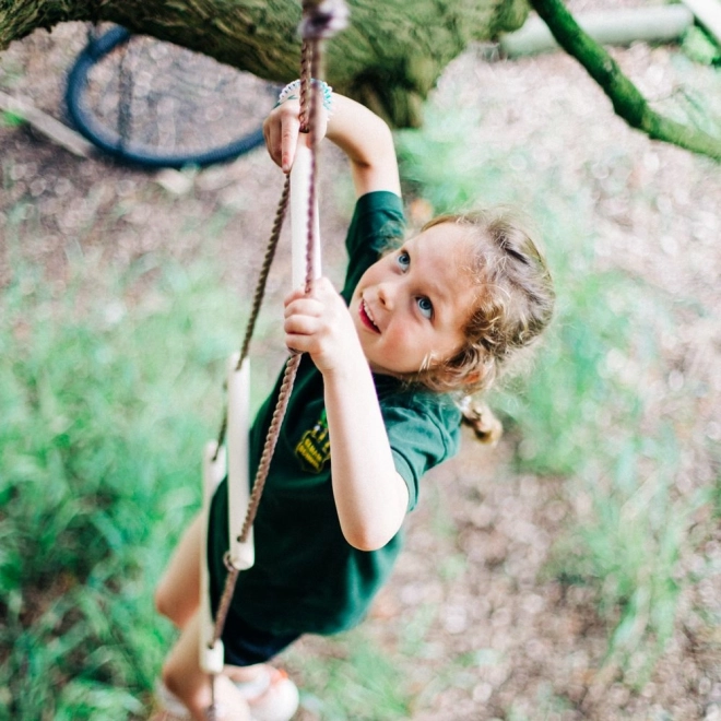
<svg viewBox="0 0 721 721">
<path fill-rule="evenodd" d="M 200 667 L 199 643 L 199 620 L 198 616 L 194 616 L 186 625 L 180 639 L 165 661 L 163 683 L 186 705 L 193 719 L 205 721 L 205 711 L 212 698 L 211 683 Z M 229 678 L 216 677 L 215 700 L 220 721 L 249 721 L 248 705 Z"/>
</svg>

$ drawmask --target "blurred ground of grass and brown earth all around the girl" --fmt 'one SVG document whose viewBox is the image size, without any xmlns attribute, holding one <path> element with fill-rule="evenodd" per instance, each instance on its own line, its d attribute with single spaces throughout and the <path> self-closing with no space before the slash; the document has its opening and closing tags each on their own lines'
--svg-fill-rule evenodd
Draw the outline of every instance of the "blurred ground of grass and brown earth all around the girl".
<svg viewBox="0 0 721 721">
<path fill-rule="evenodd" d="M 600 5 L 622 3 L 570 8 Z M 69 122 L 87 33 L 13 44 L 0 88 Z M 721 137 L 721 54 L 697 27 L 611 52 L 654 107 Z M 228 83 L 243 107 L 185 111 L 223 143 L 274 96 Z M 281 659 L 297 718 L 719 720 L 719 165 L 630 130 L 563 52 L 473 47 L 425 117 L 397 132 L 411 226 L 520 208 L 558 310 L 488 398 L 501 442 L 469 434 L 426 478 L 369 620 Z M 262 149 L 181 170 L 76 157 L 11 111 L 0 156 L 0 717 L 142 719 L 174 638 L 153 586 L 199 506 L 283 178 Z M 353 189 L 334 149 L 320 172 L 324 272 L 340 281 Z M 284 235 L 256 405 L 285 356 L 288 287 Z"/>
</svg>

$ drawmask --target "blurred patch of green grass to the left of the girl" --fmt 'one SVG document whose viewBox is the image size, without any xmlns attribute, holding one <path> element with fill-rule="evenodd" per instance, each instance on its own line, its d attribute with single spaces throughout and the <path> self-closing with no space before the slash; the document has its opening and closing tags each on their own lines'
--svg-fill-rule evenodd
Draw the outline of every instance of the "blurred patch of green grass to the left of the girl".
<svg viewBox="0 0 721 721">
<path fill-rule="evenodd" d="M 237 340 L 206 268 L 76 272 L 20 268 L 2 297 L 0 718 L 142 710 L 170 639 L 147 579 L 198 506 Z"/>
</svg>

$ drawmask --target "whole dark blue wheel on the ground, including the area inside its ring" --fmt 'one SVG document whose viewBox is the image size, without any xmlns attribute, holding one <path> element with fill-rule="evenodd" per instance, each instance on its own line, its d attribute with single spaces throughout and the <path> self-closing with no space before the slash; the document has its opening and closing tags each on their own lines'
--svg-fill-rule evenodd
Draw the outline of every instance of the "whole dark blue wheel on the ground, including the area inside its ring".
<svg viewBox="0 0 721 721">
<path fill-rule="evenodd" d="M 149 168 L 205 166 L 263 142 L 275 87 L 250 73 L 115 26 L 73 64 L 73 123 L 114 157 Z"/>
</svg>

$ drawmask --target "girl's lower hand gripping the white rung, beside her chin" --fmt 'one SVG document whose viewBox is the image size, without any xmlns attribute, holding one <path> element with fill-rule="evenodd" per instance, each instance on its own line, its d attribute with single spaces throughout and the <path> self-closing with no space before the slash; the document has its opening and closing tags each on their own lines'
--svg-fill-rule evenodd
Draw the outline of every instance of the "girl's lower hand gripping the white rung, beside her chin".
<svg viewBox="0 0 721 721">
<path fill-rule="evenodd" d="M 298 288 L 285 299 L 285 343 L 308 353 L 324 375 L 351 367 L 363 350 L 345 302 L 327 277 L 314 281 L 310 295 Z M 355 352 L 357 351 L 357 353 Z"/>
</svg>

